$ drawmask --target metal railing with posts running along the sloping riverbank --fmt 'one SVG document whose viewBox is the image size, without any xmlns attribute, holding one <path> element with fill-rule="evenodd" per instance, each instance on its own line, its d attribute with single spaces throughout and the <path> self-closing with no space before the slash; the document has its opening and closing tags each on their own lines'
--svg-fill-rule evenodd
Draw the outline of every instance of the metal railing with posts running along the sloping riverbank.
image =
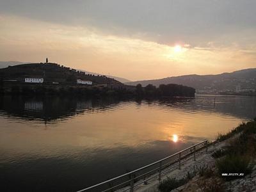
<svg viewBox="0 0 256 192">
<path fill-rule="evenodd" d="M 125 173 L 113 179 L 100 182 L 89 188 L 81 189 L 77 192 L 82 191 L 114 191 L 117 189 L 122 189 L 121 191 L 133 191 L 134 187 L 140 184 L 147 184 L 148 180 L 158 177 L 159 182 L 161 181 L 161 176 L 163 173 L 168 172 L 168 170 L 178 166 L 181 168 L 181 164 L 188 161 L 188 157 L 193 155 L 193 160 L 196 161 L 196 152 L 199 152 L 203 148 L 206 148 L 206 153 L 208 149 L 208 141 L 202 141 L 191 147 L 180 150 L 179 152 L 173 154 L 172 156 L 165 157 L 159 161 L 148 164 L 137 170 L 129 173 Z M 184 161 L 182 161 L 184 159 Z"/>
</svg>

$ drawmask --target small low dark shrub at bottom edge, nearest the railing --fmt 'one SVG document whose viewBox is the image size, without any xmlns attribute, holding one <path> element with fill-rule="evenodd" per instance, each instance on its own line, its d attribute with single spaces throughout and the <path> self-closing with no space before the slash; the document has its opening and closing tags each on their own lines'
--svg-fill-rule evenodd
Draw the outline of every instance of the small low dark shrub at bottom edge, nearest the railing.
<svg viewBox="0 0 256 192">
<path fill-rule="evenodd" d="M 176 178 L 170 178 L 167 177 L 167 179 L 164 179 L 158 186 L 159 191 L 161 192 L 170 192 L 172 189 L 179 188 L 179 186 L 182 186 L 188 182 L 187 179 L 176 179 Z"/>
</svg>

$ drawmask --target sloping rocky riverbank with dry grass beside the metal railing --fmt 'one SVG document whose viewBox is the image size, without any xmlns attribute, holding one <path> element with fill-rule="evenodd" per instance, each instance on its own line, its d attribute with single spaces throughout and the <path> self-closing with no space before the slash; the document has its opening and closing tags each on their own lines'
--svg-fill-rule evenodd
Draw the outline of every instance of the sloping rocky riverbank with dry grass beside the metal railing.
<svg viewBox="0 0 256 192">
<path fill-rule="evenodd" d="M 151 180 L 135 191 L 255 191 L 255 154 L 256 119 L 219 134 L 207 154 L 198 153 L 196 161 L 186 161 L 181 170 L 173 168 L 160 184 Z"/>
</svg>

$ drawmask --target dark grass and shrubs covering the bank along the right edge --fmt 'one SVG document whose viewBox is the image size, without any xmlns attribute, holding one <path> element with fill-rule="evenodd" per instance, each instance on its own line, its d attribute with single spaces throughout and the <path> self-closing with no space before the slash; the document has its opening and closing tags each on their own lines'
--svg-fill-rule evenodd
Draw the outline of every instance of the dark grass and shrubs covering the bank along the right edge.
<svg viewBox="0 0 256 192">
<path fill-rule="evenodd" d="M 254 163 L 252 159 L 256 154 L 256 122 L 243 123 L 228 132 L 227 135 L 220 137 L 220 140 L 233 136 L 238 132 L 241 132 L 241 134 L 229 140 L 228 146 L 224 151 L 216 150 L 212 154 L 216 158 L 224 156 L 216 160 L 216 167 L 220 176 L 225 180 L 241 178 L 252 171 Z M 222 175 L 222 173 L 243 173 L 243 175 L 227 176 Z"/>
</svg>

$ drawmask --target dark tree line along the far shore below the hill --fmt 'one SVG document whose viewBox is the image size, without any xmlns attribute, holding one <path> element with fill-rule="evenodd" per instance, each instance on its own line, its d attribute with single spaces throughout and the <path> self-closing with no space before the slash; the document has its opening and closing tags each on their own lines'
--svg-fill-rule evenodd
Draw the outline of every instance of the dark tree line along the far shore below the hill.
<svg viewBox="0 0 256 192">
<path fill-rule="evenodd" d="M 111 87 L 85 87 L 85 86 L 0 86 L 0 94 L 14 95 L 83 95 L 87 97 L 195 97 L 195 89 L 180 84 L 161 84 L 158 88 L 152 84 L 142 87 L 122 86 Z"/>
</svg>

